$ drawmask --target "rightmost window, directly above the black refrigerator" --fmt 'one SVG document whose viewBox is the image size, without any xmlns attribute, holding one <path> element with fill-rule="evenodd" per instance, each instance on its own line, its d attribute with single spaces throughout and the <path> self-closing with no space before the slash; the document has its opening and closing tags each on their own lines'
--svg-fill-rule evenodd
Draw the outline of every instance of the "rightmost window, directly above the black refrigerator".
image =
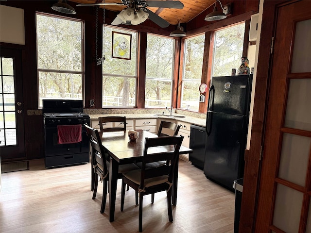
<svg viewBox="0 0 311 233">
<path fill-rule="evenodd" d="M 241 65 L 245 23 L 215 32 L 212 76 L 231 75 Z"/>
</svg>

